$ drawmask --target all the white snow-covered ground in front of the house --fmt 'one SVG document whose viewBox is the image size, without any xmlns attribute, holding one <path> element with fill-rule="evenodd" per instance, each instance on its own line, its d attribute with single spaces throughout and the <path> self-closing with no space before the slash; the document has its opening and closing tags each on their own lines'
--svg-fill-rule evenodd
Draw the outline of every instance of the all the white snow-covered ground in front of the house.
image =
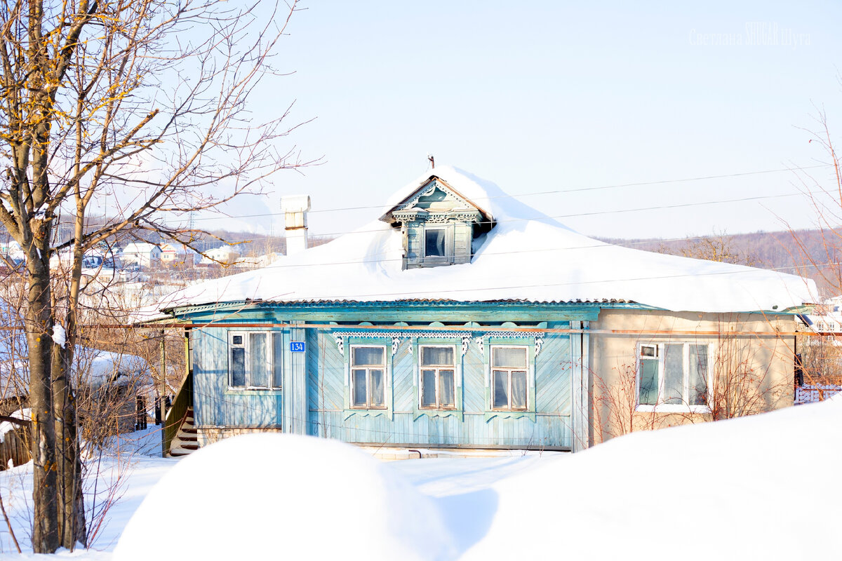
<svg viewBox="0 0 842 561">
<path fill-rule="evenodd" d="M 152 429 L 134 437 L 101 459 L 98 504 L 124 485 L 95 551 L 73 558 L 842 558 L 842 398 L 576 455 L 384 463 L 252 435 L 174 460 L 142 455 Z M 29 469 L 0 474 L 24 548 Z M 0 558 L 21 558 L 0 526 Z"/>
</svg>

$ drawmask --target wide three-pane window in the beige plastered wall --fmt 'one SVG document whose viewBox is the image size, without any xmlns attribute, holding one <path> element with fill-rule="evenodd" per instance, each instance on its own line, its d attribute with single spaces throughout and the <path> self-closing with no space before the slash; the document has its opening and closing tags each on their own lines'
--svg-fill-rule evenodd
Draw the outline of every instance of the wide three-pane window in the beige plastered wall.
<svg viewBox="0 0 842 561">
<path fill-rule="evenodd" d="M 637 368 L 638 405 L 706 408 L 707 347 L 695 343 L 641 345 Z"/>
</svg>

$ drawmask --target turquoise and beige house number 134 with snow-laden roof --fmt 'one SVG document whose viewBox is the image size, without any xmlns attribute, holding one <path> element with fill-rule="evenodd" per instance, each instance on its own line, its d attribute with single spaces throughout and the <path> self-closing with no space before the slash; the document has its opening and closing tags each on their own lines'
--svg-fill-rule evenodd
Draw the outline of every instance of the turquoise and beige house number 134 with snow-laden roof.
<svg viewBox="0 0 842 561">
<path fill-rule="evenodd" d="M 792 405 L 791 308 L 813 290 L 596 241 L 436 167 L 359 230 L 159 305 L 188 325 L 168 423 L 189 431 L 168 442 L 575 451 Z"/>
</svg>

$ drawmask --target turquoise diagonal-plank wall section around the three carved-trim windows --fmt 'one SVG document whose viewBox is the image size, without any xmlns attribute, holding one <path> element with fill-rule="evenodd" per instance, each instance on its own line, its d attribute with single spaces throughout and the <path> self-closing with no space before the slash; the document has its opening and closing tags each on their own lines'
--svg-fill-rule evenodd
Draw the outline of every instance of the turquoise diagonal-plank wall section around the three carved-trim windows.
<svg viewBox="0 0 842 561">
<path fill-rule="evenodd" d="M 393 411 L 371 415 L 344 409 L 345 357 L 326 330 L 309 330 L 307 375 L 312 389 L 308 434 L 386 446 L 570 447 L 569 336 L 547 337 L 536 357 L 536 415 L 504 418 L 489 414 L 487 369 L 473 343 L 462 358 L 463 419 L 417 415 L 411 342 L 401 341 L 392 361 Z M 520 344 L 512 340 L 509 344 Z M 391 345 L 391 343 L 390 343 Z M 346 351 L 347 352 L 347 351 Z M 458 352 L 457 352 L 458 357 Z"/>
</svg>

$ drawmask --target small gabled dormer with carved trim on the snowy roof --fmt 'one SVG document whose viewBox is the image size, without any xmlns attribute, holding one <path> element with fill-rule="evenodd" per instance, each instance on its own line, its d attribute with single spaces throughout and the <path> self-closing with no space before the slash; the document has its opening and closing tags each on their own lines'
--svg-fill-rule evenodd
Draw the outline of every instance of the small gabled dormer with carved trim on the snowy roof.
<svg viewBox="0 0 842 561">
<path fill-rule="evenodd" d="M 437 176 L 381 220 L 401 228 L 404 269 L 469 263 L 474 239 L 493 227 L 488 213 Z"/>
</svg>

